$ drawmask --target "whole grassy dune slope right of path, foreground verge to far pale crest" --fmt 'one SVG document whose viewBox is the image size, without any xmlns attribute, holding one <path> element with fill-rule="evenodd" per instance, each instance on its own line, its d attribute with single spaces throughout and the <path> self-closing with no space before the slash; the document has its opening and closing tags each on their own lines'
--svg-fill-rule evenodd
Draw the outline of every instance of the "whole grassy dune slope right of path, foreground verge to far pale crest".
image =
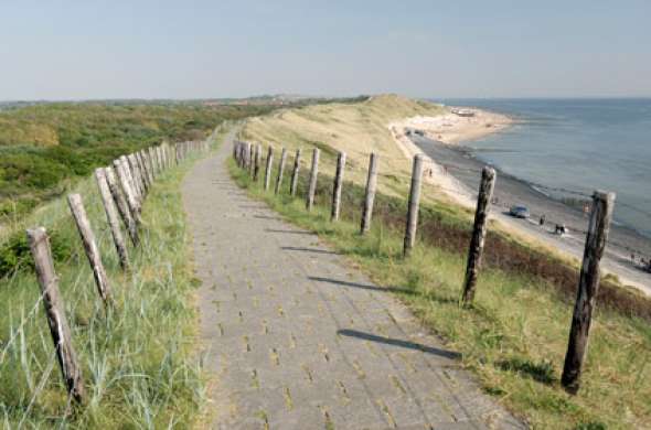
<svg viewBox="0 0 651 430">
<path fill-rule="evenodd" d="M 401 116 L 436 115 L 438 109 L 388 96 L 248 121 L 246 139 L 271 142 L 278 149 L 280 144 L 322 149 L 326 162 L 320 165 L 318 205 L 311 214 L 305 212 L 300 198 L 286 195 L 287 183 L 284 195 L 271 196 L 234 166 L 233 173 L 252 194 L 322 235 L 378 284 L 391 286 L 426 326 L 462 353 L 462 365 L 476 372 L 487 393 L 534 428 L 651 427 L 649 299 L 602 281 L 583 388 L 578 396 L 569 396 L 559 377 L 578 280 L 576 267 L 492 224 L 476 305 L 460 309 L 471 215 L 437 198 L 431 186 L 424 190 L 416 250 L 409 260 L 402 258 L 409 162 L 392 148 L 386 123 Z M 346 165 L 343 222 L 333 225 L 328 205 L 334 154 L 341 149 L 352 154 L 353 163 Z M 384 160 L 385 175 L 378 179 L 382 193 L 376 197 L 373 232 L 362 238 L 356 232 L 371 150 Z M 307 165 L 309 157 L 305 159 Z M 300 179 L 301 195 L 307 170 L 302 169 Z"/>
</svg>

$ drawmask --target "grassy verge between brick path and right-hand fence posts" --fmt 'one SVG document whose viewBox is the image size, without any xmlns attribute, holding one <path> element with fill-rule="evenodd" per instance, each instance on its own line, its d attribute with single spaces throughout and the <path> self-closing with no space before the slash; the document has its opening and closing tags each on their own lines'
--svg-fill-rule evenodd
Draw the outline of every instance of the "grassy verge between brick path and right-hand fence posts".
<svg viewBox="0 0 651 430">
<path fill-rule="evenodd" d="M 480 276 L 476 305 L 460 309 L 465 249 L 451 246 L 453 240 L 434 240 L 428 233 L 434 225 L 441 234 L 468 230 L 470 221 L 459 216 L 456 209 L 424 204 L 419 225 L 423 234 L 412 258 L 404 260 L 399 223 L 406 206 L 403 200 L 378 195 L 373 229 L 361 237 L 356 211 L 359 186 L 345 183 L 343 219 L 332 224 L 328 206 L 331 178 L 319 178 L 316 208 L 307 213 L 302 200 L 265 193 L 259 184 L 252 183 L 230 163 L 233 176 L 250 195 L 267 202 L 288 221 L 319 234 L 375 282 L 394 291 L 425 326 L 462 354 L 463 366 L 476 373 L 487 393 L 532 427 L 651 427 L 648 320 L 622 310 L 598 308 L 581 390 L 578 396 L 569 396 L 559 385 L 559 375 L 572 304 L 558 294 L 553 277 L 537 276 L 535 271 L 524 270 L 522 265 L 487 265 Z M 305 191 L 305 175 L 303 170 L 301 191 Z M 403 214 L 399 219 L 398 214 Z M 489 237 L 488 247 L 490 240 Z M 509 249 L 508 246 L 504 243 L 503 249 Z"/>
</svg>

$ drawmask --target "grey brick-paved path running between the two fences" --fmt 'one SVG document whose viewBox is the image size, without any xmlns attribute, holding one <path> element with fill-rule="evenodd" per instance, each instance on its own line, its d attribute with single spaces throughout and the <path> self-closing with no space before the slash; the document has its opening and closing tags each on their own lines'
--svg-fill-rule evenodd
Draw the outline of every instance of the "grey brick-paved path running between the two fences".
<svg viewBox="0 0 651 430">
<path fill-rule="evenodd" d="M 211 428 L 522 428 L 391 292 L 237 189 L 230 151 L 183 184 Z"/>
</svg>

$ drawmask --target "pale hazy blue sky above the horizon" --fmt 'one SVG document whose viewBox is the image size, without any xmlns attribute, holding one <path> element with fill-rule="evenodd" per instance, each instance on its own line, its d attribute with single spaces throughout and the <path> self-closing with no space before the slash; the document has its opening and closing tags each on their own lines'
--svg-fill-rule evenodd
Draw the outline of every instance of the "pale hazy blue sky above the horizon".
<svg viewBox="0 0 651 430">
<path fill-rule="evenodd" d="M 651 96 L 650 19 L 647 0 L 0 0 L 0 100 Z"/>
</svg>

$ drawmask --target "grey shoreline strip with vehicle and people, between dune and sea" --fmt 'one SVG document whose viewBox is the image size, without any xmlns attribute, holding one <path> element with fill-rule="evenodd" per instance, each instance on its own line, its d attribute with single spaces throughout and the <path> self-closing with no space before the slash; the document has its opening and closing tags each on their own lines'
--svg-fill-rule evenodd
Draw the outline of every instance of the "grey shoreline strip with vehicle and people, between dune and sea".
<svg viewBox="0 0 651 430">
<path fill-rule="evenodd" d="M 412 141 L 439 165 L 445 165 L 447 173 L 457 179 L 472 196 L 477 195 L 481 169 L 484 162 L 477 159 L 469 148 L 450 146 L 426 137 L 413 136 Z M 581 259 L 584 252 L 585 230 L 588 226 L 588 217 L 581 211 L 563 204 L 547 195 L 536 191 L 529 183 L 498 171 L 494 197 L 497 204 L 493 214 L 508 226 L 529 234 L 544 244 L 558 248 L 562 251 Z M 511 205 L 526 206 L 532 216 L 530 219 L 516 219 L 509 216 Z M 617 201 L 616 201 L 617 204 Z M 540 226 L 541 215 L 545 215 L 545 225 Z M 565 224 L 569 233 L 559 236 L 554 233 L 555 224 Z M 609 241 L 606 248 L 606 257 L 601 267 L 606 272 L 617 275 L 620 280 L 651 295 L 651 273 L 643 271 L 631 262 L 631 250 L 636 250 L 639 259 L 642 254 L 644 259 L 651 257 L 651 240 L 637 232 L 613 225 L 610 229 Z"/>
</svg>

